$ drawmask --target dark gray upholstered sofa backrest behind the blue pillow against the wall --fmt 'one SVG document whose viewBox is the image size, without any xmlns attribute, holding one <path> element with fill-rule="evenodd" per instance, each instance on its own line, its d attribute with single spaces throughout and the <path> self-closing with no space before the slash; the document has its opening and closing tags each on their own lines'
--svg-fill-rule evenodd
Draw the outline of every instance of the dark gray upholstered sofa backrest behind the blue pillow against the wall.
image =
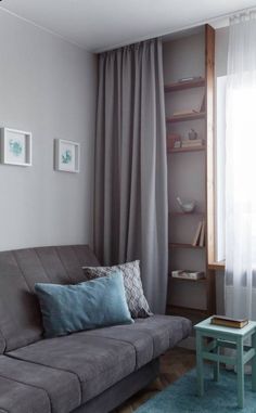
<svg viewBox="0 0 256 413">
<path fill-rule="evenodd" d="M 0 353 L 42 337 L 35 284 L 76 284 L 85 281 L 82 266 L 99 266 L 87 245 L 0 253 Z"/>
</svg>

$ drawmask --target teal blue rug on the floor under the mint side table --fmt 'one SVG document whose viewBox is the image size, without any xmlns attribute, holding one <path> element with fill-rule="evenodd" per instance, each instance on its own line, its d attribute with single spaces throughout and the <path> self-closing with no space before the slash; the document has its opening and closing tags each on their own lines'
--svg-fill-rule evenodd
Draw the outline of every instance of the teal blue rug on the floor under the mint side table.
<svg viewBox="0 0 256 413">
<path fill-rule="evenodd" d="M 239 409 L 235 373 L 221 370 L 216 383 L 212 367 L 205 365 L 205 395 L 202 398 L 196 396 L 196 372 L 192 370 L 142 404 L 136 413 L 256 413 L 256 392 L 251 388 L 251 376 L 245 376 L 244 409 Z"/>
</svg>

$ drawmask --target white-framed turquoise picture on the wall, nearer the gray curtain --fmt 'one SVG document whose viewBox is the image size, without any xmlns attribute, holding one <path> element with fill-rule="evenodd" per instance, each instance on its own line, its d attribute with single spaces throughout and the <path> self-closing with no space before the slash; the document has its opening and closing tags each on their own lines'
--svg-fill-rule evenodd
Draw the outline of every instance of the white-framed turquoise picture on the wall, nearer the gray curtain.
<svg viewBox="0 0 256 413">
<path fill-rule="evenodd" d="M 55 139 L 55 169 L 79 172 L 79 143 Z"/>
</svg>

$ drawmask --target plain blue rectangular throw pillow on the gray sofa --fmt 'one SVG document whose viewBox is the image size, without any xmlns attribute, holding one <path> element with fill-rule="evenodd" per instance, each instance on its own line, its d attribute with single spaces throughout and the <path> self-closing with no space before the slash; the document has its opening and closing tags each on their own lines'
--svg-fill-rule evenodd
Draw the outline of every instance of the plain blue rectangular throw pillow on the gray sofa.
<svg viewBox="0 0 256 413">
<path fill-rule="evenodd" d="M 35 284 L 46 337 L 133 323 L 121 273 L 76 285 Z"/>
</svg>

